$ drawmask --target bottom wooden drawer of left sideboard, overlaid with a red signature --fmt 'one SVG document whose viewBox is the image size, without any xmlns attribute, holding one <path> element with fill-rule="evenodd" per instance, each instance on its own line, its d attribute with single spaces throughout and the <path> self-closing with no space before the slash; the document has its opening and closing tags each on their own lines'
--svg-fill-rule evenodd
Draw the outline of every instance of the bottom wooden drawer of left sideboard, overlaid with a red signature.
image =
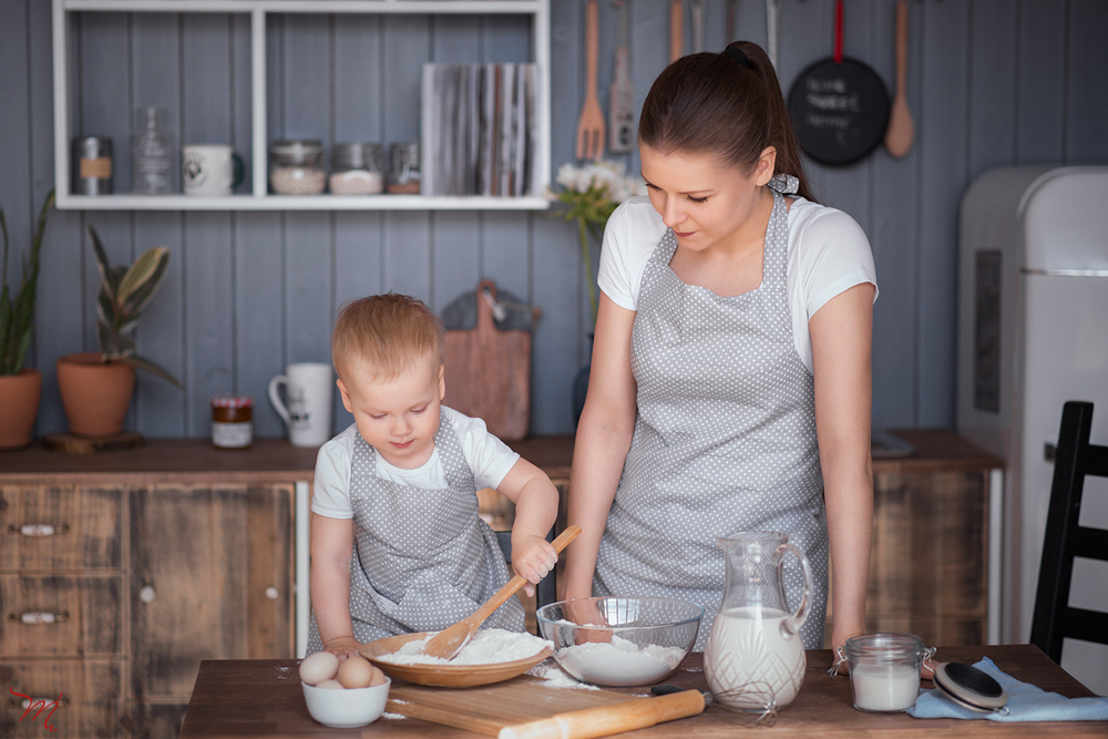
<svg viewBox="0 0 1108 739">
<path fill-rule="evenodd" d="M 120 737 L 123 725 L 123 663 L 98 660 L 0 661 L 4 688 L 0 712 L 3 737 Z M 24 699 L 59 700 L 35 717 Z M 51 710 L 53 712 L 51 714 Z M 49 716 L 48 716 L 49 715 Z M 49 723 L 49 727 L 47 726 Z"/>
</svg>

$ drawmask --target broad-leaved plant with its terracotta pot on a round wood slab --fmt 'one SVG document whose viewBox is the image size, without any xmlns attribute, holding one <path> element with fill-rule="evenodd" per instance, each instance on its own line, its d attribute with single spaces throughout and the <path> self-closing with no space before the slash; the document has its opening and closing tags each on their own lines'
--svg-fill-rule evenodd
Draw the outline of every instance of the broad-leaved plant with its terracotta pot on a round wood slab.
<svg viewBox="0 0 1108 739">
<path fill-rule="evenodd" d="M 110 266 L 96 229 L 89 240 L 100 268 L 96 296 L 96 341 L 100 351 L 58 358 L 58 388 L 70 432 L 105 437 L 123 431 L 123 420 L 134 394 L 135 368 L 182 387 L 165 368 L 135 353 L 132 333 L 138 317 L 157 291 L 170 264 L 170 249 L 154 246 L 130 267 Z"/>
</svg>

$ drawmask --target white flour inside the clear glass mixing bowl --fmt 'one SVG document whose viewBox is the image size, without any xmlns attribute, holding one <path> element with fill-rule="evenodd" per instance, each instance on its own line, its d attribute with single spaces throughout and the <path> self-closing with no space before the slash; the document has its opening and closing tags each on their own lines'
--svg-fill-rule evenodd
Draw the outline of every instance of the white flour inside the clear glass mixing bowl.
<svg viewBox="0 0 1108 739">
<path fill-rule="evenodd" d="M 578 680 L 619 687 L 660 680 L 680 664 L 685 650 L 654 644 L 639 647 L 613 635 L 611 642 L 587 642 L 563 648 L 555 657 L 563 669 Z"/>
</svg>

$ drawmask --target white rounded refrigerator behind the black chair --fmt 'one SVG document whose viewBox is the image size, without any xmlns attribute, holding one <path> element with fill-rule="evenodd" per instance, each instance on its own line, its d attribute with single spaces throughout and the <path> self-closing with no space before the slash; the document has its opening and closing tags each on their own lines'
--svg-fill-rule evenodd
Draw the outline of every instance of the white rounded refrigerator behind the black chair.
<svg viewBox="0 0 1108 739">
<path fill-rule="evenodd" d="M 1063 404 L 1095 403 L 1108 444 L 1108 167 L 986 172 L 958 249 L 957 431 L 1006 460 L 999 638 L 1026 643 Z M 1081 513 L 1108 528 L 1105 479 L 1086 480 Z M 1070 605 L 1108 610 L 1108 563 L 1076 562 Z M 1061 665 L 1108 695 L 1108 646 L 1067 639 Z"/>
</svg>

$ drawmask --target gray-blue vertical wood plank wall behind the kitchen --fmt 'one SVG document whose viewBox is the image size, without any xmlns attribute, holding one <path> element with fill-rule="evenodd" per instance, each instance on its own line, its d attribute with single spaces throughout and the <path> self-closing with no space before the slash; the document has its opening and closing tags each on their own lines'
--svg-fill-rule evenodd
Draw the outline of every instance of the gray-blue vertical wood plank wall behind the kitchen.
<svg viewBox="0 0 1108 739">
<path fill-rule="evenodd" d="M 706 43 L 726 42 L 727 2 L 708 0 Z M 573 156 L 584 94 L 583 2 L 552 1 L 553 162 Z M 779 75 L 788 89 L 832 51 L 833 0 L 781 0 Z M 894 0 L 845 3 L 845 53 L 893 81 Z M 738 37 L 766 42 L 762 2 L 739 3 Z M 601 6 L 599 91 L 607 107 L 616 10 Z M 686 23 L 687 48 L 691 31 Z M 876 260 L 873 419 L 950 427 L 954 417 L 958 203 L 982 172 L 1012 164 L 1108 162 L 1108 4 L 1102 0 L 912 0 L 909 104 L 916 141 L 851 167 L 811 166 L 825 203 L 865 229 Z M 523 61 L 520 17 L 295 17 L 267 29 L 270 140 L 386 144 L 418 137 L 420 63 Z M 17 252 L 53 186 L 50 3 L 0 0 L 0 206 Z M 75 23 L 72 127 L 115 143 L 130 187 L 134 110 L 168 110 L 183 142 L 232 143 L 250 166 L 246 16 L 89 14 Z M 668 61 L 668 2 L 632 1 L 636 96 Z M 637 171 L 638 156 L 624 157 Z M 441 309 L 482 277 L 543 308 L 534 342 L 534 433 L 573 430 L 570 387 L 587 360 L 589 317 L 571 225 L 534 213 L 54 212 L 44 245 L 34 345 L 44 374 L 38 433 L 65 418 L 54 359 L 95 349 L 94 224 L 114 260 L 165 244 L 170 275 L 140 349 L 187 391 L 140 376 L 129 427 L 205 437 L 208 398 L 257 399 L 255 431 L 284 433 L 266 384 L 287 362 L 326 361 L 338 307 L 397 290 Z M 9 270 L 18 280 L 18 270 Z M 336 399 L 336 430 L 349 422 Z"/>
</svg>

